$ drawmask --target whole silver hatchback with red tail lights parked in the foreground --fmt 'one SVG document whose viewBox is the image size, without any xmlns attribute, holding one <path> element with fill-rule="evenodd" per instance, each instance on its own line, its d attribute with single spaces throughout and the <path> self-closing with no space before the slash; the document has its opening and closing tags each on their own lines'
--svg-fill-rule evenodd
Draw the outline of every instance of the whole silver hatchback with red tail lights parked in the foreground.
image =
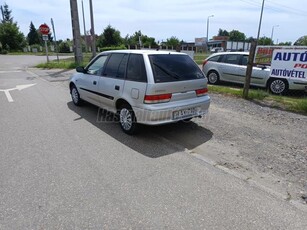
<svg viewBox="0 0 307 230">
<path fill-rule="evenodd" d="M 208 112 L 207 79 L 184 53 L 106 51 L 76 70 L 69 83 L 73 103 L 84 100 L 118 114 L 127 134 L 139 124 L 190 120 Z"/>
</svg>

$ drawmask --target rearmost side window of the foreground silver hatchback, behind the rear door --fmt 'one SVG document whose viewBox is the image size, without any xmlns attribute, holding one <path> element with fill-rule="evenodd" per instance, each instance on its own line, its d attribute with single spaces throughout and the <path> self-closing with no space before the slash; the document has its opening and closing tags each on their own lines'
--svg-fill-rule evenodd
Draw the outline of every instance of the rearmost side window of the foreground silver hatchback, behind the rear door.
<svg viewBox="0 0 307 230">
<path fill-rule="evenodd" d="M 127 65 L 127 80 L 147 82 L 144 58 L 141 54 L 130 54 Z"/>
</svg>

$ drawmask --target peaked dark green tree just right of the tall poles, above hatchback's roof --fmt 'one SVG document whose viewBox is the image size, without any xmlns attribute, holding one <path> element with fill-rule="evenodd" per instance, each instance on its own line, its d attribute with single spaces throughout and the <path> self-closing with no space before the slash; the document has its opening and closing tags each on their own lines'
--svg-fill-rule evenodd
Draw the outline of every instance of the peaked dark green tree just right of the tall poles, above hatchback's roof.
<svg viewBox="0 0 307 230">
<path fill-rule="evenodd" d="M 108 25 L 97 41 L 98 47 L 120 46 L 123 44 L 123 39 L 120 36 L 119 30 L 116 30 L 111 25 Z"/>
</svg>

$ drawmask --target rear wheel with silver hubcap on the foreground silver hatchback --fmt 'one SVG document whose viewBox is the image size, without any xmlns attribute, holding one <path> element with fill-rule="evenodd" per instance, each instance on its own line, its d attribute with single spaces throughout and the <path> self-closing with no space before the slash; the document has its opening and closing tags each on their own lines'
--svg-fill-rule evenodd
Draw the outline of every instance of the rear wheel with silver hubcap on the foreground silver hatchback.
<svg viewBox="0 0 307 230">
<path fill-rule="evenodd" d="M 123 104 L 118 111 L 118 115 L 119 124 L 122 130 L 128 135 L 136 134 L 138 131 L 138 124 L 131 106 Z"/>
</svg>

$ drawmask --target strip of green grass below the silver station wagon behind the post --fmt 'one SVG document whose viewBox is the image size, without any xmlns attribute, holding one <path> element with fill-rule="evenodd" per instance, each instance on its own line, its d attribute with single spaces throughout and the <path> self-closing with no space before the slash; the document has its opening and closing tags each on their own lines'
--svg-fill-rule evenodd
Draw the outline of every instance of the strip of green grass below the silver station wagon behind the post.
<svg viewBox="0 0 307 230">
<path fill-rule="evenodd" d="M 243 89 L 229 86 L 208 85 L 209 93 L 218 93 L 234 97 L 242 97 Z M 307 97 L 292 97 L 272 95 L 262 89 L 250 89 L 248 99 L 291 112 L 307 115 Z"/>
</svg>

